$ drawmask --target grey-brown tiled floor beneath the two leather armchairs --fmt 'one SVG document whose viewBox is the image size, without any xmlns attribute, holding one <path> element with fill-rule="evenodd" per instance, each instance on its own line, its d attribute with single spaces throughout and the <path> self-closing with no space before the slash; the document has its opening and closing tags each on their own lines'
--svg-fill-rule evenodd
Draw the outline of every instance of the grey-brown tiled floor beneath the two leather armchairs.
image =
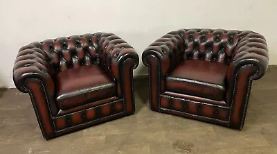
<svg viewBox="0 0 277 154">
<path fill-rule="evenodd" d="M 136 114 L 44 140 L 28 94 L 0 90 L 0 153 L 277 153 L 277 67 L 254 81 L 244 129 L 232 130 L 148 108 L 135 84 Z"/>
</svg>

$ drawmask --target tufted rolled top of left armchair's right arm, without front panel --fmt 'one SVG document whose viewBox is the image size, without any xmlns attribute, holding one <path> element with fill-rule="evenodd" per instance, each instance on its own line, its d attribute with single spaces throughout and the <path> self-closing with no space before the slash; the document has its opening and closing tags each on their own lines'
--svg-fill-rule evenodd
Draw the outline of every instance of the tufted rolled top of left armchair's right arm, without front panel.
<svg viewBox="0 0 277 154">
<path fill-rule="evenodd" d="M 112 77 L 118 79 L 120 74 L 120 65 L 127 59 L 132 59 L 134 64 L 132 69 L 136 69 L 139 65 L 139 55 L 134 48 L 127 44 L 114 33 L 102 33 L 100 35 L 100 61 L 105 65 L 106 69 Z"/>
</svg>

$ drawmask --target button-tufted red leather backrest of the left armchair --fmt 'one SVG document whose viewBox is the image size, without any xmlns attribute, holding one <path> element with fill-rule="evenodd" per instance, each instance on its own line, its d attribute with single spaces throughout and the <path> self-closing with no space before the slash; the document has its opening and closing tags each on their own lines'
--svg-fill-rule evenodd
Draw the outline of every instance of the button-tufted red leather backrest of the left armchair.
<svg viewBox="0 0 277 154">
<path fill-rule="evenodd" d="M 33 42 L 22 47 L 19 51 L 37 47 L 46 52 L 51 72 L 64 71 L 70 68 L 78 68 L 82 65 L 99 63 L 99 37 L 102 33 L 72 35 L 59 37 L 42 42 Z"/>
</svg>

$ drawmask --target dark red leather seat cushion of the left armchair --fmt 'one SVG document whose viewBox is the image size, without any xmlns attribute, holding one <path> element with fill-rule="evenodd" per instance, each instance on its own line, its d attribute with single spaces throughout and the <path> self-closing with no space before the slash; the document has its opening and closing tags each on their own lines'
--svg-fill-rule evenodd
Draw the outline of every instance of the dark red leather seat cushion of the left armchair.
<svg viewBox="0 0 277 154">
<path fill-rule="evenodd" d="M 62 110 L 116 95 L 116 84 L 98 65 L 59 72 L 56 85 L 56 101 Z"/>
</svg>

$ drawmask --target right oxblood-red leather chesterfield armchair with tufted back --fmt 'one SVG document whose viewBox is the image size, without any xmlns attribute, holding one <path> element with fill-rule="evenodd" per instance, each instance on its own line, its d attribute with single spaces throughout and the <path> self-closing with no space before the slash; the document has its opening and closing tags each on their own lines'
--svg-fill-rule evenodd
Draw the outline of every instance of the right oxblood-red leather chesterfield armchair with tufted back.
<svg viewBox="0 0 277 154">
<path fill-rule="evenodd" d="M 242 129 L 252 80 L 268 67 L 265 37 L 252 31 L 180 29 L 143 51 L 150 108 Z"/>
</svg>

